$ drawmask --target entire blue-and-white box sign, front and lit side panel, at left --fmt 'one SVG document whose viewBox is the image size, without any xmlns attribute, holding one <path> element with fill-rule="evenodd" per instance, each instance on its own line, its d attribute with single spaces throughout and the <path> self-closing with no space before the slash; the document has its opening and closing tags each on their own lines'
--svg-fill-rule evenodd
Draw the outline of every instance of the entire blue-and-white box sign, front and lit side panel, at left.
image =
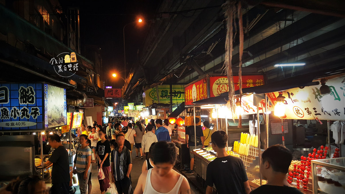
<svg viewBox="0 0 345 194">
<path fill-rule="evenodd" d="M 52 120 L 56 126 L 66 125 L 66 89 L 54 87 L 43 83 L 1 84 L 0 130 L 44 130 L 53 127 L 49 125 Z M 50 95 L 46 95 L 48 90 Z M 52 99 L 54 95 L 60 95 L 61 99 Z M 49 111 L 48 115 L 51 106 L 60 108 Z"/>
</svg>

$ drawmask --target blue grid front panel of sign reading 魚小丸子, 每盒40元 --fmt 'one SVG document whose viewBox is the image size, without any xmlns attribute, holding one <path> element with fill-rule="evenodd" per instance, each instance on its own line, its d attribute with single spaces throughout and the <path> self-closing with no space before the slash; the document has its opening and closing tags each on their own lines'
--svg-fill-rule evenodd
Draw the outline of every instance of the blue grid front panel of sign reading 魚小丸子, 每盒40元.
<svg viewBox="0 0 345 194">
<path fill-rule="evenodd" d="M 43 84 L 0 85 L 0 130 L 43 129 Z"/>
</svg>

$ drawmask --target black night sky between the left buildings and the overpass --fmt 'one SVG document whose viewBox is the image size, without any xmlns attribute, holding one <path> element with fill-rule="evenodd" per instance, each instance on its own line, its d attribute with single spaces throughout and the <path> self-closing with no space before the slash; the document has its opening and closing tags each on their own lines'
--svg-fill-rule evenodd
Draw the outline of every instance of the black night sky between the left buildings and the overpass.
<svg viewBox="0 0 345 194">
<path fill-rule="evenodd" d="M 127 74 L 136 62 L 137 50 L 141 49 L 150 22 L 156 16 L 159 0 L 116 0 L 69 2 L 70 6 L 80 8 L 80 40 L 83 45 L 97 45 L 103 58 L 103 79 L 106 85 L 122 87 L 124 81 L 113 78 L 111 74 L 124 75 L 123 27 L 130 22 L 143 18 L 144 22 L 129 24 L 125 28 Z"/>
</svg>

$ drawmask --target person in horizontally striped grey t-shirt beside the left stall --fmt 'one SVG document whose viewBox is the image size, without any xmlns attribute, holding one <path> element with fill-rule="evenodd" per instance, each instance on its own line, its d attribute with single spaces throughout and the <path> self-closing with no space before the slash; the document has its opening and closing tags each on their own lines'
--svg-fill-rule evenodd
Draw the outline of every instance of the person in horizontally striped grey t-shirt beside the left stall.
<svg viewBox="0 0 345 194">
<path fill-rule="evenodd" d="M 90 176 L 91 149 L 86 143 L 87 135 L 80 135 L 79 142 L 81 145 L 77 148 L 74 158 L 73 174 L 78 176 L 80 194 L 86 194 Z"/>
</svg>

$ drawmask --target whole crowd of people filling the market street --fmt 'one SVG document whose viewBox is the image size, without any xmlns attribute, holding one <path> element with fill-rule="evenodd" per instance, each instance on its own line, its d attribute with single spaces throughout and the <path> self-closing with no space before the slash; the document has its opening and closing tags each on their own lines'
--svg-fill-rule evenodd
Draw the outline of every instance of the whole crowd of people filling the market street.
<svg viewBox="0 0 345 194">
<path fill-rule="evenodd" d="M 195 120 L 199 123 L 198 118 Z M 163 125 L 164 124 L 164 125 Z M 73 174 L 76 174 L 81 194 L 90 194 L 92 164 L 97 163 L 104 178 L 99 180 L 100 192 L 104 194 L 111 183 L 115 183 L 117 192 L 151 194 L 151 193 L 190 193 L 187 179 L 174 171 L 177 160 L 177 148 L 171 143 L 170 135 L 174 126 L 169 126 L 167 119 L 151 119 L 134 122 L 132 118 L 113 118 L 106 128 L 98 125 L 82 126 L 79 136 L 80 145 L 76 148 L 73 161 Z M 186 128 L 186 143 L 190 151 L 212 146 L 218 157 L 210 162 L 206 172 L 206 194 L 212 194 L 216 188 L 220 193 L 292 193 L 301 194 L 286 181 L 286 173 L 292 160 L 291 152 L 282 145 L 270 146 L 262 154 L 260 170 L 267 184 L 251 191 L 245 166 L 240 158 L 230 156 L 226 151 L 227 134 L 223 130 L 212 132 L 209 123 L 204 121 L 204 129 L 196 126 Z M 41 168 L 52 165 L 50 193 L 69 193 L 69 157 L 61 144 L 59 135 L 48 136 L 49 145 L 55 148 L 51 157 Z M 141 168 L 138 184 L 133 190 L 131 181 L 132 148 L 136 157 L 145 161 Z M 139 157 L 140 154 L 140 157 Z M 193 174 L 194 158 L 190 154 L 190 169 Z M 153 181 L 154 180 L 154 181 Z M 6 187 L 6 191 L 17 193 L 49 193 L 46 184 L 38 176 L 18 178 Z"/>
</svg>

